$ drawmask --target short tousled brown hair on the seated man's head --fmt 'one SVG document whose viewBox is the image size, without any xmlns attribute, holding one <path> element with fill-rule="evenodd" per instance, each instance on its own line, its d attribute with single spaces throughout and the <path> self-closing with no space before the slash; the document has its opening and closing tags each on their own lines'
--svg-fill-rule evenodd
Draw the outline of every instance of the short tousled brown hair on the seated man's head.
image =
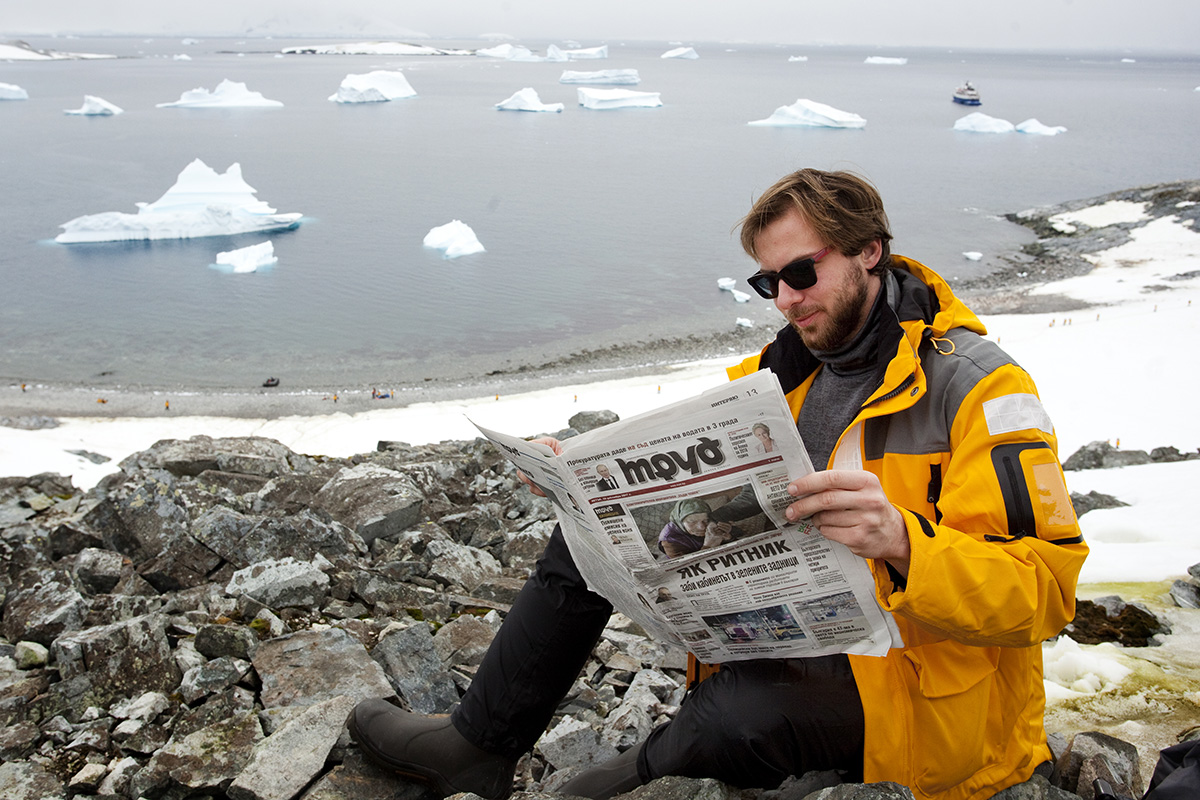
<svg viewBox="0 0 1200 800">
<path fill-rule="evenodd" d="M 883 198 L 864 178 L 848 172 L 800 169 L 775 182 L 755 200 L 742 222 L 742 248 L 758 260 L 755 240 L 763 228 L 797 209 L 817 236 L 842 255 L 858 255 L 876 239 L 883 246 L 871 275 L 892 264 L 892 231 Z"/>
</svg>

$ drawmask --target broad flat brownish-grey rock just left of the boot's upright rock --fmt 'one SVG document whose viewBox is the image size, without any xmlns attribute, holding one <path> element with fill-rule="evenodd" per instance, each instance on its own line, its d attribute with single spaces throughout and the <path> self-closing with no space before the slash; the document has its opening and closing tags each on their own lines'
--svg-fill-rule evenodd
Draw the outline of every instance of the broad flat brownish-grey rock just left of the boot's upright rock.
<svg viewBox="0 0 1200 800">
<path fill-rule="evenodd" d="M 346 631 L 301 631 L 264 642 L 254 654 L 263 708 L 312 705 L 331 697 L 391 697 L 391 684 Z"/>
</svg>

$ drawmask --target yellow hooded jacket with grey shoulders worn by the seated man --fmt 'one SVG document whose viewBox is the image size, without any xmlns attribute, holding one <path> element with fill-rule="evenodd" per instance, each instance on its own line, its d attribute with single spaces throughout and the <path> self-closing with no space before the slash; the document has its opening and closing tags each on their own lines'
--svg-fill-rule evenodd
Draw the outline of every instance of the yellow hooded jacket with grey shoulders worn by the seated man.
<svg viewBox="0 0 1200 800">
<path fill-rule="evenodd" d="M 1075 614 L 1087 546 L 1028 374 L 937 273 L 899 255 L 893 266 L 894 355 L 829 463 L 877 475 L 912 546 L 907 581 L 870 564 L 905 646 L 851 656 L 864 778 L 982 800 L 1050 758 L 1042 642 Z M 818 367 L 784 329 L 728 373 L 773 369 L 798 414 Z"/>
</svg>

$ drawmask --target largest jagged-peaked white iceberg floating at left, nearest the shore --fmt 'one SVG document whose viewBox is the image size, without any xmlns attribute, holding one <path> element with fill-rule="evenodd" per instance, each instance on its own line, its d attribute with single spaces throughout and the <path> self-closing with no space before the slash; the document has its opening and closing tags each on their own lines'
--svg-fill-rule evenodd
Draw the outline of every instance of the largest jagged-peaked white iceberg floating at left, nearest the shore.
<svg viewBox="0 0 1200 800">
<path fill-rule="evenodd" d="M 54 241 L 136 241 L 146 239 L 197 239 L 233 234 L 290 230 L 300 213 L 276 213 L 254 197 L 256 190 L 241 178 L 234 163 L 217 174 L 197 158 L 179 174 L 175 185 L 154 203 L 138 203 L 137 213 L 106 211 L 65 222 Z"/>
</svg>

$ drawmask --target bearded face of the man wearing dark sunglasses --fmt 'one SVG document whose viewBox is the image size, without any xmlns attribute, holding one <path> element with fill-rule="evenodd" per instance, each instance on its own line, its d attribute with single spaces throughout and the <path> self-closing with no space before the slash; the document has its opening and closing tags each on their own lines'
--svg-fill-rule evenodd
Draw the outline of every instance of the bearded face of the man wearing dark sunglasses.
<svg viewBox="0 0 1200 800">
<path fill-rule="evenodd" d="M 768 223 L 755 240 L 758 266 L 764 272 L 778 272 L 827 246 L 797 209 L 788 209 Z M 816 285 L 808 289 L 797 290 L 779 282 L 775 307 L 805 345 L 814 350 L 834 350 L 858 332 L 880 289 L 880 279 L 868 270 L 878 263 L 881 252 L 878 241 L 858 255 L 830 252 L 816 265 Z"/>
</svg>

